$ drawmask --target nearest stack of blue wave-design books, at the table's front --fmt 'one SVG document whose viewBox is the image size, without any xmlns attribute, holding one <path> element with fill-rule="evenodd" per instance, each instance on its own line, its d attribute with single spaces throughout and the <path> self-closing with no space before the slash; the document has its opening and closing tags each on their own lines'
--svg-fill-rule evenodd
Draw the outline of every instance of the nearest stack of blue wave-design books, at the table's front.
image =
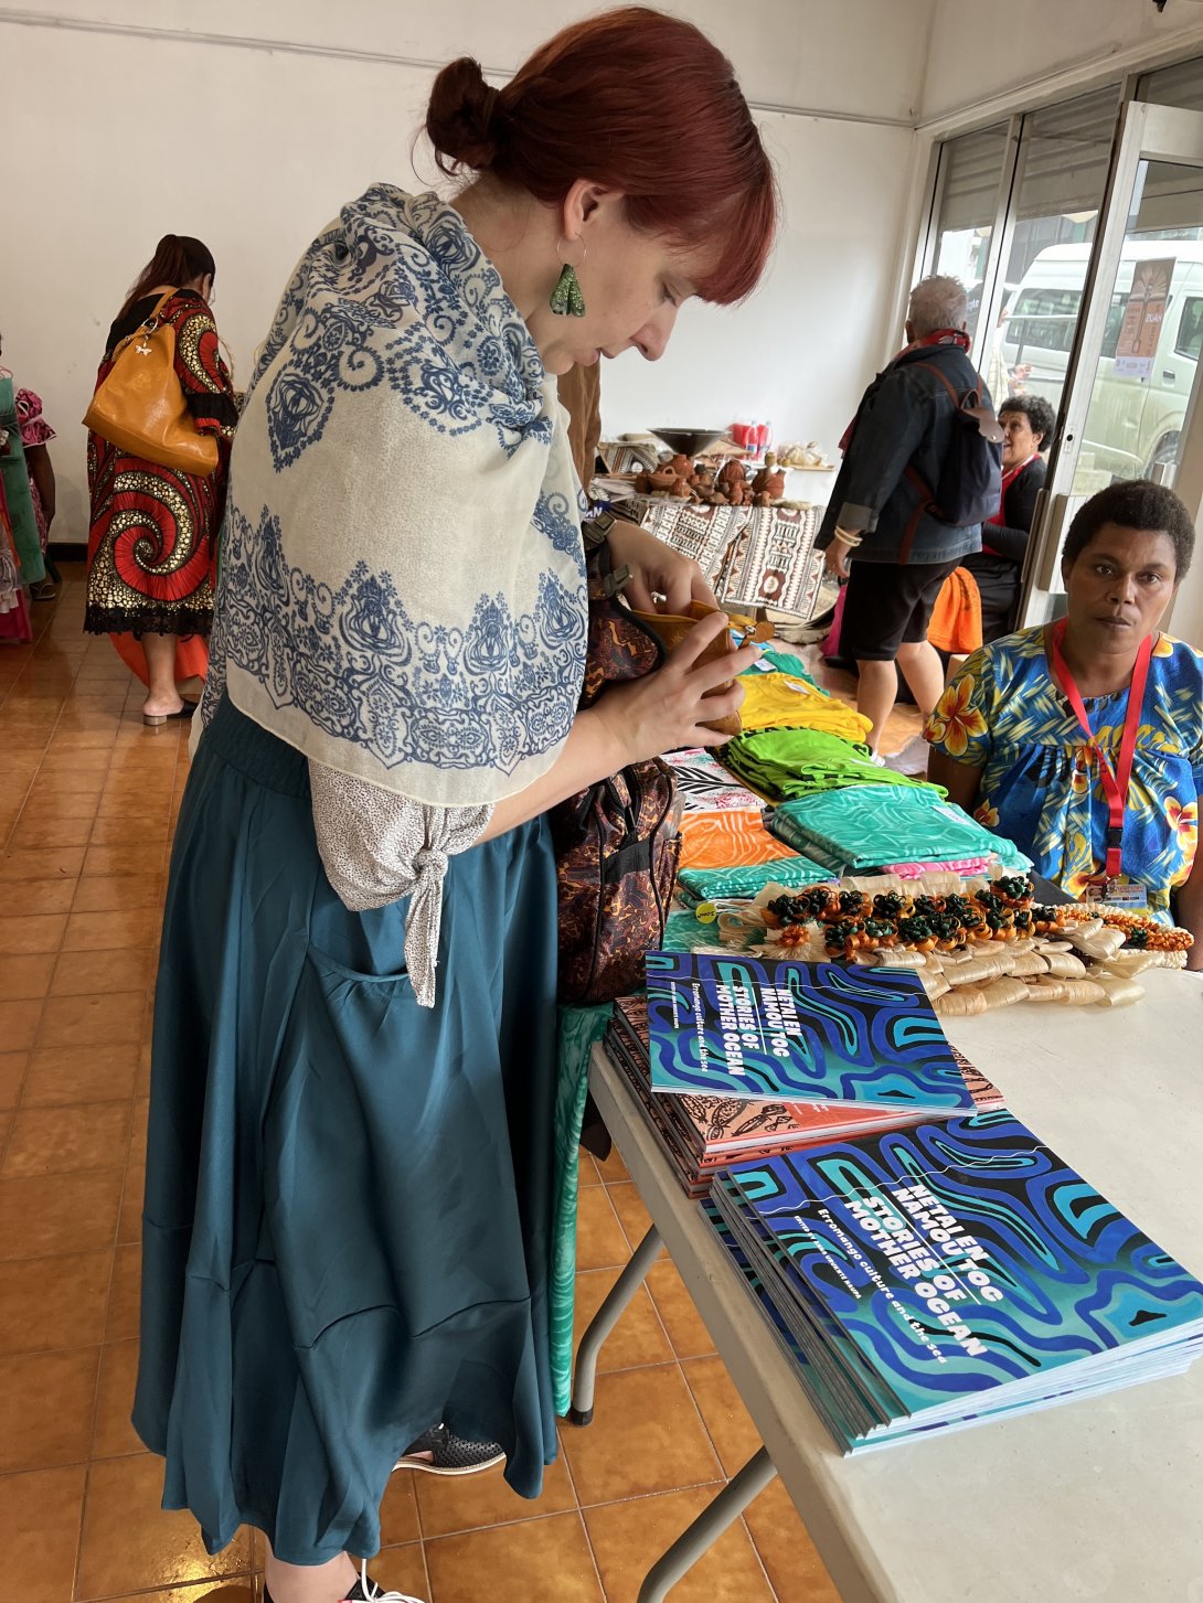
<svg viewBox="0 0 1203 1603">
<path fill-rule="evenodd" d="M 1203 1286 L 1006 1109 L 741 1164 L 715 1201 L 860 1395 L 845 1446 L 1179 1372 L 1203 1342 Z"/>
</svg>

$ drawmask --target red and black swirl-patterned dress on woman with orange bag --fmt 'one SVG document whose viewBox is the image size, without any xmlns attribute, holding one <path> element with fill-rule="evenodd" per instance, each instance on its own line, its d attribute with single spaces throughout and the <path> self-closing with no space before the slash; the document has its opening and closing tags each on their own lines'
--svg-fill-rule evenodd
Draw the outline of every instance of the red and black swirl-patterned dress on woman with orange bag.
<svg viewBox="0 0 1203 1603">
<path fill-rule="evenodd" d="M 109 330 L 96 385 L 112 349 L 144 322 L 146 295 Z M 176 473 L 88 433 L 88 596 L 83 628 L 93 635 L 207 635 L 213 622 L 217 532 L 226 500 L 229 441 L 237 406 L 217 327 L 200 295 L 176 290 L 160 317 L 175 329 L 175 370 L 200 433 L 218 436 L 209 478 Z"/>
</svg>

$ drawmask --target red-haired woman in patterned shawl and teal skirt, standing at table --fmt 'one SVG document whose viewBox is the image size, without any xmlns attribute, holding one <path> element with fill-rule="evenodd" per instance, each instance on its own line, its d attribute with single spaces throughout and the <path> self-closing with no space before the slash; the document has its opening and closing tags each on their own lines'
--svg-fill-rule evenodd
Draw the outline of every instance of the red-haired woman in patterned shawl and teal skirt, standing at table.
<svg viewBox="0 0 1203 1603">
<path fill-rule="evenodd" d="M 157 979 L 135 1423 L 276 1603 L 375 1597 L 398 1459 L 539 1494 L 557 896 L 545 813 L 714 745 L 755 648 L 706 620 L 577 713 L 584 548 L 555 375 L 659 357 L 770 247 L 730 63 L 613 11 L 502 90 L 436 79 L 468 183 L 377 186 L 303 255 L 233 450 Z M 592 535 L 595 531 L 589 531 Z M 695 564 L 611 532 L 637 601 Z M 396 1597 L 388 1593 L 388 1597 Z"/>
</svg>

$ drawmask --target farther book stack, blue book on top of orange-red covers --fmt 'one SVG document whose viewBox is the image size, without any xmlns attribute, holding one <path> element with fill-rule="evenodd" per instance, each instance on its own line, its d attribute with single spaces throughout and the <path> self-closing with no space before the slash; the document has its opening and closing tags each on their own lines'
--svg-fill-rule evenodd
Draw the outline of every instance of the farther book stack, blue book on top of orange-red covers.
<svg viewBox="0 0 1203 1603">
<path fill-rule="evenodd" d="M 664 959 L 664 963 L 651 957 Z M 889 986 L 882 986 L 863 978 L 876 971 L 840 970 L 847 978 L 836 983 L 826 976 L 832 967 L 651 954 L 648 997 L 622 997 L 614 1003 L 605 1052 L 630 1082 L 688 1196 L 706 1196 L 715 1173 L 728 1164 L 770 1157 L 834 1137 L 898 1129 L 929 1117 L 942 1106 L 950 1114 L 1001 1106 L 990 1080 L 946 1042 L 922 986 L 911 973 L 900 970 Z M 797 989 L 791 991 L 791 983 Z M 839 1037 L 839 1052 L 832 1048 L 828 1055 L 807 1042 L 802 1024 L 804 1018 L 813 1016 L 805 1011 L 805 992 L 820 986 L 824 1011 L 815 1031 Z M 789 1000 L 783 1002 L 778 991 Z M 736 995 L 738 1002 L 733 1000 Z M 816 991 L 815 1005 L 820 1005 L 818 997 Z M 900 1028 L 895 1031 L 900 1037 L 895 1055 L 917 1053 L 932 1069 L 924 1082 L 927 1088 L 921 1092 L 916 1079 L 916 1093 L 909 1096 L 898 1084 L 897 1066 L 879 1064 L 879 1072 L 868 1074 L 860 1061 L 853 1084 L 849 1084 L 849 1056 L 860 1060 L 871 1052 L 871 1040 L 857 1039 L 857 1024 L 849 1016 L 853 1000 L 860 1008 L 860 1029 L 871 1036 L 865 1010 L 873 1005 L 873 1018 L 889 1034 L 881 1010 L 887 1000 L 897 1003 L 900 997 L 913 1003 L 916 1016 L 909 1034 Z M 837 1023 L 840 1010 L 842 1024 Z M 781 1039 L 791 1044 L 789 1053 L 778 1055 L 781 1045 L 773 1047 L 772 1031 L 765 1036 L 767 1050 L 760 1050 L 759 1036 L 752 1040 L 755 1031 L 749 1026 L 739 1064 L 735 1064 L 735 1045 L 723 1042 L 728 1011 L 746 1024 L 755 1011 L 765 1031 L 770 1031 L 772 1020 L 772 1031 L 780 1029 Z M 929 1037 L 922 1048 L 917 1034 Z M 802 1069 L 815 1068 L 820 1056 L 821 1072 L 807 1079 Z M 956 1082 L 953 1090 L 943 1084 L 945 1069 Z M 930 1082 L 937 1077 L 940 1084 L 932 1088 Z M 832 1096 L 832 1087 L 842 1087 L 849 1095 Z M 874 1088 L 879 1100 L 866 1100 Z"/>
</svg>

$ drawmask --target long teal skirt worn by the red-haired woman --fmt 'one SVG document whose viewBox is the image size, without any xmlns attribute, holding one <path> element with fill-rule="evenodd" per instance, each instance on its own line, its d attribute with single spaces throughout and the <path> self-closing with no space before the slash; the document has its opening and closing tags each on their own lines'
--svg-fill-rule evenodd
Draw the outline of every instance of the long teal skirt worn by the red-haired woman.
<svg viewBox="0 0 1203 1603">
<path fill-rule="evenodd" d="M 133 1411 L 210 1552 L 371 1557 L 439 1420 L 525 1497 L 555 1457 L 547 826 L 451 858 L 433 1008 L 406 906 L 343 907 L 305 758 L 223 701 L 172 853 Z"/>
</svg>

